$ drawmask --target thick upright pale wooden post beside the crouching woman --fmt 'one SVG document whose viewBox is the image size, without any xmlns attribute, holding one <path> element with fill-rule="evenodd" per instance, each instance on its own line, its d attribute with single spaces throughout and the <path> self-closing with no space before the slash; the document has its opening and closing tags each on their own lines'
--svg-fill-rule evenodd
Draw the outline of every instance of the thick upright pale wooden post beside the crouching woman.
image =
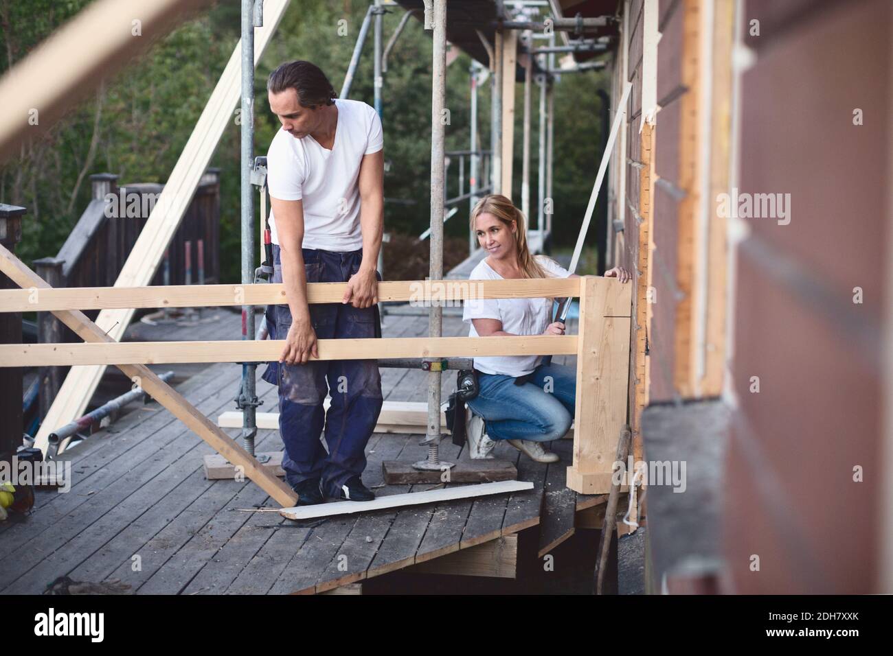
<svg viewBox="0 0 893 656">
<path fill-rule="evenodd" d="M 577 404 L 567 486 L 580 494 L 611 491 L 617 436 L 626 423 L 632 285 L 580 280 Z"/>
</svg>

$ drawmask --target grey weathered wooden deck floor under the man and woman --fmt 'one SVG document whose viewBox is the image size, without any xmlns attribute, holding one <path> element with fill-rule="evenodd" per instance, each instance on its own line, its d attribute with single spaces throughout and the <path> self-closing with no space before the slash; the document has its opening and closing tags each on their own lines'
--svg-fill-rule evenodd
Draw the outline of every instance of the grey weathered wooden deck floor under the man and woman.
<svg viewBox="0 0 893 656">
<path fill-rule="evenodd" d="M 388 336 L 427 333 L 425 317 L 400 318 L 393 324 L 386 323 Z M 445 320 L 444 328 L 445 336 L 466 329 L 458 318 Z M 213 413 L 231 406 L 239 374 L 236 366 L 212 365 L 179 389 L 202 411 Z M 381 374 L 386 398 L 424 400 L 426 372 L 383 369 Z M 275 403 L 275 388 L 263 387 L 267 403 Z M 443 383 L 445 401 L 454 387 L 455 374 L 449 372 Z M 95 489 L 94 494 L 66 500 L 69 495 L 40 493 L 46 508 L 4 531 L 4 538 L 13 537 L 14 552 L 23 560 L 9 580 L 4 582 L 0 572 L 0 584 L 36 593 L 54 577 L 69 574 L 76 580 L 121 578 L 140 594 L 323 592 L 536 525 L 547 475 L 545 466 L 501 445 L 497 448 L 505 451 L 503 457 L 517 461 L 519 479 L 534 481 L 533 492 L 333 518 L 302 527 L 278 513 L 235 511 L 270 499 L 255 486 L 205 480 L 201 458 L 212 450 L 162 408 L 133 411 L 113 429 L 117 435 L 98 434 L 83 449 L 65 456 L 80 472 L 75 476 L 79 493 Z M 380 485 L 384 458 L 424 459 L 427 447 L 418 444 L 420 438 L 373 436 L 365 483 Z M 441 444 L 444 459 L 461 453 L 448 439 Z M 258 448 L 281 448 L 278 433 L 259 433 Z M 139 467 L 133 467 L 134 462 Z M 428 488 L 387 486 L 375 492 Z M 77 494 L 74 487 L 70 494 Z M 47 531 L 50 527 L 53 530 Z M 45 538 L 48 554 L 30 548 Z M 133 555 L 141 559 L 138 571 Z"/>
</svg>

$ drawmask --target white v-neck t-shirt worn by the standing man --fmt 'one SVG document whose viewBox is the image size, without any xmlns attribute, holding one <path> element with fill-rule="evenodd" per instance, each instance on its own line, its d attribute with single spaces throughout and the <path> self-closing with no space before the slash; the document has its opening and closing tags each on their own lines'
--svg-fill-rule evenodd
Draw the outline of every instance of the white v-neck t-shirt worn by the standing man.
<svg viewBox="0 0 893 656">
<path fill-rule="evenodd" d="M 304 248 L 349 253 L 363 247 L 357 179 L 363 155 L 383 144 L 381 120 L 368 104 L 336 100 L 335 143 L 326 150 L 307 135 L 292 137 L 280 129 L 267 152 L 267 187 L 282 201 L 303 201 Z M 270 214 L 273 244 L 279 244 Z"/>
</svg>

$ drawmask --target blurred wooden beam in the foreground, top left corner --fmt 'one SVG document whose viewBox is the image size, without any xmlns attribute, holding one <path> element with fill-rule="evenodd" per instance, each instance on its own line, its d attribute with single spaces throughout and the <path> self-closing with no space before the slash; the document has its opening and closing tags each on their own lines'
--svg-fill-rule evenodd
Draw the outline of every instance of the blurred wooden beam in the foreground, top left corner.
<svg viewBox="0 0 893 656">
<path fill-rule="evenodd" d="M 211 0 L 100 0 L 0 79 L 0 161 Z M 14 26 L 13 26 L 14 28 Z M 136 33 L 138 30 L 138 33 Z"/>
</svg>

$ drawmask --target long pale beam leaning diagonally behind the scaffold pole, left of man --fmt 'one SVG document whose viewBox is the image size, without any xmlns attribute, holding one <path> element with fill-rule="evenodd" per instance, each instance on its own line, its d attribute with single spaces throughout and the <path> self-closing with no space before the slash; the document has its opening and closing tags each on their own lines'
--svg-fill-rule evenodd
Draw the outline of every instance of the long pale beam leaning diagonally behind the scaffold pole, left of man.
<svg viewBox="0 0 893 656">
<path fill-rule="evenodd" d="M 116 0 L 117 1 L 117 0 Z M 263 28 L 255 29 L 255 65 L 288 7 L 288 0 L 267 0 L 263 5 Z M 139 16 L 139 12 L 133 14 Z M 104 34 L 97 29 L 95 34 Z M 133 38 L 133 37 L 129 37 Z M 96 40 L 93 38 L 92 40 Z M 90 38 L 84 40 L 89 44 Z M 79 52 L 72 47 L 69 53 Z M 66 53 L 66 56 L 71 56 Z M 211 162 L 211 157 L 223 135 L 234 119 L 236 104 L 241 93 L 241 45 L 236 44 L 217 86 L 204 106 L 179 160 L 171 170 L 158 202 L 146 220 L 137 242 L 130 249 L 127 261 L 115 281 L 115 286 L 133 287 L 148 285 L 155 270 L 162 262 L 164 251 L 179 228 L 198 183 Z M 44 81 L 41 80 L 41 84 Z M 5 97 L 5 96 L 4 96 Z M 243 117 L 243 120 L 247 120 Z M 105 310 L 96 318 L 96 325 L 114 341 L 120 341 L 133 318 L 133 310 Z M 103 377 L 103 366 L 76 367 L 59 390 L 56 401 L 44 418 L 35 438 L 35 445 L 46 449 L 49 431 L 63 426 L 84 414 L 96 386 Z"/>
</svg>

